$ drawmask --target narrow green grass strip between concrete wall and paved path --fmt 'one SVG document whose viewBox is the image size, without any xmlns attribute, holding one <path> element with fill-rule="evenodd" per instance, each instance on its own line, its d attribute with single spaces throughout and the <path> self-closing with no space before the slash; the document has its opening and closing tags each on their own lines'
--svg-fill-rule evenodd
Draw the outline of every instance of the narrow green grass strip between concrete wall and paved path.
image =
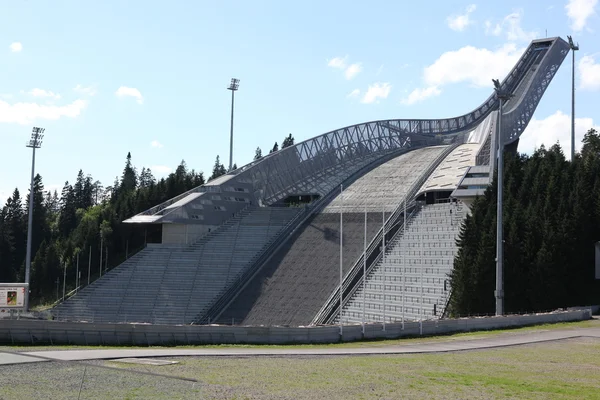
<svg viewBox="0 0 600 400">
<path fill-rule="evenodd" d="M 405 344 L 416 344 L 416 343 L 429 343 L 429 342 L 440 342 L 440 341 L 453 341 L 453 340 L 476 340 L 481 338 L 489 338 L 498 335 L 513 335 L 524 332 L 541 332 L 547 330 L 556 329 L 577 329 L 577 328 L 593 328 L 600 327 L 600 320 L 593 319 L 580 322 L 561 322 L 556 324 L 543 324 L 535 325 L 524 328 L 515 329 L 503 329 L 494 331 L 477 331 L 477 332 L 466 332 L 456 333 L 452 335 L 443 336 L 432 336 L 432 337 L 417 337 L 417 338 L 403 338 L 393 340 L 370 340 L 370 341 L 357 341 L 347 343 L 333 343 L 333 344 L 306 344 L 306 345 L 202 345 L 202 346 L 178 346 L 180 348 L 355 348 L 355 347 L 384 347 L 384 346 L 401 346 Z M 133 346 L 68 346 L 68 345 L 56 345 L 56 346 L 0 346 L 0 351 L 43 351 L 43 350 L 83 350 L 83 349 L 114 349 L 114 348 L 137 348 Z M 153 346 L 152 348 L 163 348 L 162 346 Z"/>
</svg>

